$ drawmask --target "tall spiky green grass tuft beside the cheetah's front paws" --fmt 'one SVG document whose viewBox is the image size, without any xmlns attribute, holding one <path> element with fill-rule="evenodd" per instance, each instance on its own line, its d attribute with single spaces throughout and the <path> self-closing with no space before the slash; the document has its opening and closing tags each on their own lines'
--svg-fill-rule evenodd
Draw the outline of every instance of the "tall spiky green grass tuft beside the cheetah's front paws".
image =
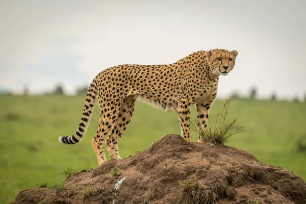
<svg viewBox="0 0 306 204">
<path fill-rule="evenodd" d="M 206 129 L 202 130 L 200 125 L 195 126 L 191 122 L 192 130 L 199 134 L 202 141 L 208 141 L 215 144 L 223 144 L 226 143 L 227 140 L 230 139 L 233 135 L 245 131 L 245 126 L 240 126 L 238 130 L 235 130 L 235 128 L 232 130 L 236 119 L 230 122 L 226 118 L 230 101 L 231 98 L 228 100 L 226 99 L 225 103 L 223 104 L 224 106 L 222 112 L 218 111 L 215 125 L 208 126 Z"/>
</svg>

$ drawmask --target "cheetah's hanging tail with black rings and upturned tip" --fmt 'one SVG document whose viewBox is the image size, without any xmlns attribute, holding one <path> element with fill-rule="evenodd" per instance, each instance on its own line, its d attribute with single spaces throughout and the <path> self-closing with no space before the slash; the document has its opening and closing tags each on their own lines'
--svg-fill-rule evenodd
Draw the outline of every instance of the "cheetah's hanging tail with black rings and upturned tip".
<svg viewBox="0 0 306 204">
<path fill-rule="evenodd" d="M 77 144 L 78 142 L 82 140 L 83 136 L 85 135 L 87 131 L 87 127 L 90 122 L 96 95 L 97 95 L 97 88 L 96 88 L 96 83 L 94 79 L 92 83 L 90 84 L 88 92 L 87 92 L 83 115 L 82 115 L 81 122 L 79 124 L 77 131 L 75 131 L 75 133 L 71 136 L 59 137 L 59 140 L 61 143 Z"/>
</svg>

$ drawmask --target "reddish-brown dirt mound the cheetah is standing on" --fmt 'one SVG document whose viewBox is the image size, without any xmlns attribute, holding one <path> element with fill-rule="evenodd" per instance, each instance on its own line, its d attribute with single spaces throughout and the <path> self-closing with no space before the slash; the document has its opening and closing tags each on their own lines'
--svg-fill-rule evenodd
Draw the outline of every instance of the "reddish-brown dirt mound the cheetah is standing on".
<svg viewBox="0 0 306 204">
<path fill-rule="evenodd" d="M 115 167 L 118 175 L 111 174 Z M 185 142 L 179 135 L 63 184 L 23 190 L 12 203 L 306 203 L 306 184 L 291 171 L 234 147 Z"/>
</svg>

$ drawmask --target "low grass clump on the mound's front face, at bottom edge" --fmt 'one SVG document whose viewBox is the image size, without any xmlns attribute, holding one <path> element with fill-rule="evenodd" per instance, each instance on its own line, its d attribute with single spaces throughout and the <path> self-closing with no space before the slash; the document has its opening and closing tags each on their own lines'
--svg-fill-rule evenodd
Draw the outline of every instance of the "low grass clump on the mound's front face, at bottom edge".
<svg viewBox="0 0 306 204">
<path fill-rule="evenodd" d="M 184 199 L 187 204 L 216 203 L 216 194 L 210 189 L 200 188 L 194 177 L 191 181 L 180 182 L 180 189 L 185 194 Z"/>
</svg>

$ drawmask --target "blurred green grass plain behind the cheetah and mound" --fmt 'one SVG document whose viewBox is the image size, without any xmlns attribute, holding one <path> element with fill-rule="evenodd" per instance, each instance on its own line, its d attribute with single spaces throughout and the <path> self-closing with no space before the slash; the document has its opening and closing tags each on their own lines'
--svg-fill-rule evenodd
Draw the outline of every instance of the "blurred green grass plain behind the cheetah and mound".
<svg viewBox="0 0 306 204">
<path fill-rule="evenodd" d="M 223 102 L 215 102 L 210 119 L 222 111 Z M 77 129 L 84 103 L 85 96 L 0 95 L 0 203 L 12 201 L 19 191 L 37 187 L 40 182 L 60 184 L 65 179 L 62 169 L 68 166 L 75 172 L 98 166 L 91 143 L 98 127 L 97 105 L 82 142 L 65 145 L 58 141 L 59 136 L 71 135 Z M 306 137 L 306 103 L 232 99 L 228 112 L 230 121 L 237 119 L 235 129 L 245 125 L 246 131 L 231 137 L 227 145 L 306 180 L 306 151 L 299 151 L 297 145 Z M 191 116 L 191 120 L 196 119 L 193 109 Z M 171 133 L 181 134 L 174 111 L 163 112 L 137 102 L 119 142 L 120 156 L 135 155 L 135 148 L 147 149 Z M 195 132 L 192 141 L 197 141 Z"/>
</svg>

